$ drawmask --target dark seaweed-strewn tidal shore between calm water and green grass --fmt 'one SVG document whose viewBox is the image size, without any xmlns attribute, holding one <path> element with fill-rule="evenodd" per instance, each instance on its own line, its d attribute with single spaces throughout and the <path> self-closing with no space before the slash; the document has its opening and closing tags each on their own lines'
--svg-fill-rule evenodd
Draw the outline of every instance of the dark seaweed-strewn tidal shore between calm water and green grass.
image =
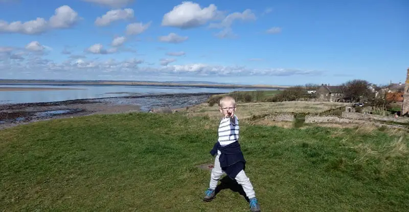
<svg viewBox="0 0 409 212">
<path fill-rule="evenodd" d="M 216 94 L 220 93 L 169 93 L 58 102 L 2 104 L 0 105 L 0 130 L 33 122 L 93 114 L 148 112 L 147 108 L 160 107 L 186 108 L 201 104 L 210 96 Z M 141 102 L 148 102 L 148 105 L 138 105 Z M 172 107 L 172 105 L 174 106 Z"/>
</svg>

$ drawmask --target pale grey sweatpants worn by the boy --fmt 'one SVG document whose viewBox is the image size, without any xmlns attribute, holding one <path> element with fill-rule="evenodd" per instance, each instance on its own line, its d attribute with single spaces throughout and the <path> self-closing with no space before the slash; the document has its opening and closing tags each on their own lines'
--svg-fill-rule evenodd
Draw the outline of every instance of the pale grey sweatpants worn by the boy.
<svg viewBox="0 0 409 212">
<path fill-rule="evenodd" d="M 220 161 L 219 161 L 220 153 L 221 153 L 220 151 L 217 151 L 217 156 L 214 160 L 214 167 L 210 175 L 209 188 L 213 190 L 216 189 L 217 182 L 219 181 L 220 177 L 224 174 L 224 171 L 221 170 L 221 167 L 220 167 Z M 237 174 L 235 180 L 243 187 L 243 190 L 246 193 L 246 196 L 248 197 L 248 199 L 256 197 L 256 194 L 253 189 L 253 185 L 250 182 L 250 179 L 248 179 L 248 177 L 244 173 L 244 170 L 241 170 Z"/>
</svg>

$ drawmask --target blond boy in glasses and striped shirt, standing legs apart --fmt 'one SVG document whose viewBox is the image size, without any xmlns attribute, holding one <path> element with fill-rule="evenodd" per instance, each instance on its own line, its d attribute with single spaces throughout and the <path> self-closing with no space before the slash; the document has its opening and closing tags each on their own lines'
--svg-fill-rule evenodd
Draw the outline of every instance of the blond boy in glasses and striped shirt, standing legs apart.
<svg viewBox="0 0 409 212">
<path fill-rule="evenodd" d="M 205 192 L 206 196 L 203 200 L 212 201 L 215 196 L 217 182 L 221 175 L 226 173 L 243 187 L 246 196 L 250 200 L 251 211 L 260 211 L 253 185 L 244 173 L 246 161 L 238 142 L 239 120 L 234 114 L 236 111 L 236 101 L 229 96 L 221 98 L 219 110 L 223 114 L 218 130 L 219 138 L 212 151 L 210 151 L 210 154 L 213 156 L 217 154 L 217 156 L 210 177 L 209 189 Z"/>
</svg>

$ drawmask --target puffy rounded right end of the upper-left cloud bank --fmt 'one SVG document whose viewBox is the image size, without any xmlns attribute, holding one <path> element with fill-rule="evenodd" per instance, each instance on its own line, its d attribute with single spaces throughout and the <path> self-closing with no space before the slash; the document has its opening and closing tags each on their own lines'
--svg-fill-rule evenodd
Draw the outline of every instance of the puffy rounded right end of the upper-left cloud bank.
<svg viewBox="0 0 409 212">
<path fill-rule="evenodd" d="M 74 26 L 80 17 L 69 6 L 61 6 L 55 10 L 55 14 L 50 18 L 52 28 L 70 28 Z"/>
</svg>

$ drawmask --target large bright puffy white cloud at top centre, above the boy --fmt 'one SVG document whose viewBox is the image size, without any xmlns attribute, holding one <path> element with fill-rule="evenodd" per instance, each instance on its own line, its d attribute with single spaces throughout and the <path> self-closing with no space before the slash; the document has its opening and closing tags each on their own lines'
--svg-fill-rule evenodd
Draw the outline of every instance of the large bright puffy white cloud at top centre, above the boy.
<svg viewBox="0 0 409 212">
<path fill-rule="evenodd" d="M 217 19 L 220 12 L 214 4 L 201 8 L 193 2 L 183 2 L 166 13 L 162 19 L 162 26 L 188 29 L 205 25 L 207 22 Z"/>
</svg>

